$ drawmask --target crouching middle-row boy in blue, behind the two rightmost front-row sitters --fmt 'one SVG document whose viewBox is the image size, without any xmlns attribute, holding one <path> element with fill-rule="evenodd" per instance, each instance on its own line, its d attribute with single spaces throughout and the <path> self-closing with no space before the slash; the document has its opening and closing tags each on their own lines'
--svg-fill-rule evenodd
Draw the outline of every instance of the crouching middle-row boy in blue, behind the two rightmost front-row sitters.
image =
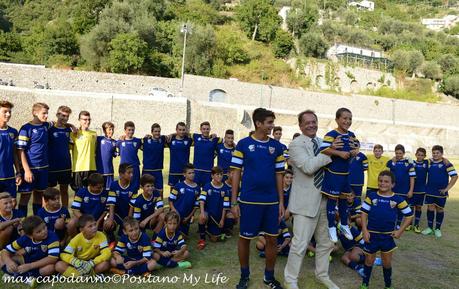
<svg viewBox="0 0 459 289">
<path fill-rule="evenodd" d="M 164 225 L 164 203 L 158 190 L 155 189 L 155 177 L 146 174 L 140 178 L 142 193 L 131 200 L 129 216 L 140 222 L 140 229 L 153 230 L 153 236 Z"/>
</svg>

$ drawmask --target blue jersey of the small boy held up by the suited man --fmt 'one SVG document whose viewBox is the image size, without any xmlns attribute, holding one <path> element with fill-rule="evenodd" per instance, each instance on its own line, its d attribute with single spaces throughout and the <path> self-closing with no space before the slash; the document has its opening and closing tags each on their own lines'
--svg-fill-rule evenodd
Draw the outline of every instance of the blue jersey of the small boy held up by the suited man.
<svg viewBox="0 0 459 289">
<path fill-rule="evenodd" d="M 352 150 L 352 142 L 355 139 L 355 134 L 351 131 L 347 133 L 340 133 L 337 130 L 329 131 L 320 146 L 320 150 L 323 152 L 330 148 L 337 137 L 341 137 L 343 147 L 340 151 L 350 152 Z M 332 174 L 348 175 L 349 174 L 349 159 L 345 160 L 338 156 L 331 156 L 332 162 L 329 163 L 325 168 Z"/>
</svg>

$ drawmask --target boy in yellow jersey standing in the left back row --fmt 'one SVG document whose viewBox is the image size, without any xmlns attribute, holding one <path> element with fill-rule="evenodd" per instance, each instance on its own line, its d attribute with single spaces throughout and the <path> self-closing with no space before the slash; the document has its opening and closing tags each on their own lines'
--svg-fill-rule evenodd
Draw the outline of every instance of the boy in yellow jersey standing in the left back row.
<svg viewBox="0 0 459 289">
<path fill-rule="evenodd" d="M 89 129 L 91 115 L 81 111 L 78 115 L 80 128 L 71 134 L 72 149 L 72 189 L 76 192 L 83 187 L 83 180 L 96 172 L 97 133 Z"/>
</svg>

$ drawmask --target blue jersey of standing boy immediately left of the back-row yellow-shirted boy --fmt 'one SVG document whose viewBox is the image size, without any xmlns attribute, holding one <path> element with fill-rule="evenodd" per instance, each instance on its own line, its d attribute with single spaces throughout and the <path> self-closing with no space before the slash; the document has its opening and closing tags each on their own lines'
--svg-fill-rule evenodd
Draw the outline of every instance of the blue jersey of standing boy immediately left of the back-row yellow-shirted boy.
<svg viewBox="0 0 459 289">
<path fill-rule="evenodd" d="M 48 157 L 49 171 L 62 172 L 72 170 L 70 158 L 70 134 L 69 127 L 52 126 L 48 131 Z"/>
</svg>

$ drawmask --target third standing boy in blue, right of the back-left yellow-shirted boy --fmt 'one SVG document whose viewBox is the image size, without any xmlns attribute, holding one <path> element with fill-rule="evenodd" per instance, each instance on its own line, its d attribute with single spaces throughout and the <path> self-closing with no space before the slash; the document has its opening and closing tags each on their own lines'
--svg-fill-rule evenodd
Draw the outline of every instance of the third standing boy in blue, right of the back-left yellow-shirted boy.
<svg viewBox="0 0 459 289">
<path fill-rule="evenodd" d="M 161 126 L 154 123 L 151 126 L 151 137 L 142 140 L 143 146 L 143 169 L 142 175 L 149 174 L 155 178 L 155 188 L 163 196 L 163 167 L 164 148 L 167 147 L 167 137 L 161 135 Z"/>
</svg>

